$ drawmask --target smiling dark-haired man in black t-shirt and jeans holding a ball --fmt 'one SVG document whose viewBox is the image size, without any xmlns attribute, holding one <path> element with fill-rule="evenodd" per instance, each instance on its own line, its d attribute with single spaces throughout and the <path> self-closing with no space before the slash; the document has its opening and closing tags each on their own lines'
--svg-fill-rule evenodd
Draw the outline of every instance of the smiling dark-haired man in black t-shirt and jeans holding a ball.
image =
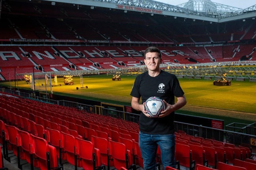
<svg viewBox="0 0 256 170">
<path fill-rule="evenodd" d="M 174 111 L 186 105 L 187 101 L 180 83 L 174 74 L 160 69 L 161 52 L 148 47 L 144 53 L 148 70 L 136 77 L 132 87 L 132 108 L 141 111 L 139 118 L 139 147 L 143 157 L 144 170 L 156 169 L 156 152 L 161 150 L 163 169 L 175 167 Z M 145 101 L 157 96 L 163 99 L 165 110 L 158 118 L 150 118 L 145 111 Z M 174 103 L 174 98 L 177 102 Z M 141 103 L 139 100 L 141 98 Z"/>
</svg>

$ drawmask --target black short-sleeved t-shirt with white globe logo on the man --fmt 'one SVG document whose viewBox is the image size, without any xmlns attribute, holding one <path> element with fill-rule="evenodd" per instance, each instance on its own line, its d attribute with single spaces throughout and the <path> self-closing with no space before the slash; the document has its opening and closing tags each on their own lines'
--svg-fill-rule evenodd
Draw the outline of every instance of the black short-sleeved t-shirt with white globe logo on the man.
<svg viewBox="0 0 256 170">
<path fill-rule="evenodd" d="M 152 96 L 164 99 L 169 104 L 174 104 L 174 96 L 183 96 L 184 92 L 174 74 L 161 70 L 156 77 L 148 75 L 148 71 L 135 78 L 131 96 L 141 98 L 141 103 Z M 140 131 L 147 134 L 166 135 L 174 132 L 174 112 L 163 118 L 148 118 L 140 114 Z"/>
</svg>

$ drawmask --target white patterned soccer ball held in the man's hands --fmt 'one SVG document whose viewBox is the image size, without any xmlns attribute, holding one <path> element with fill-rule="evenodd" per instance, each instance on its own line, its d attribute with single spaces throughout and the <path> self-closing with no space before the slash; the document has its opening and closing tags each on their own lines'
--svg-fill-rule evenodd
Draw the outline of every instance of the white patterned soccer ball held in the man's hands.
<svg viewBox="0 0 256 170">
<path fill-rule="evenodd" d="M 159 97 L 150 97 L 145 102 L 145 111 L 150 117 L 158 117 L 165 110 L 165 103 Z"/>
</svg>

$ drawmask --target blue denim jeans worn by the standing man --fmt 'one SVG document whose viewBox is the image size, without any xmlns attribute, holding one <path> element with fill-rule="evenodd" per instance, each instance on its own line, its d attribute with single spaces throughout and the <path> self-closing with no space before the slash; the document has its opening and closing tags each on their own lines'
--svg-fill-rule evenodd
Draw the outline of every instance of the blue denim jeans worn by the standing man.
<svg viewBox="0 0 256 170">
<path fill-rule="evenodd" d="M 139 147 L 143 158 L 144 170 L 156 169 L 156 153 L 158 146 L 161 150 L 163 170 L 166 166 L 175 168 L 175 135 L 148 135 L 139 132 Z"/>
</svg>

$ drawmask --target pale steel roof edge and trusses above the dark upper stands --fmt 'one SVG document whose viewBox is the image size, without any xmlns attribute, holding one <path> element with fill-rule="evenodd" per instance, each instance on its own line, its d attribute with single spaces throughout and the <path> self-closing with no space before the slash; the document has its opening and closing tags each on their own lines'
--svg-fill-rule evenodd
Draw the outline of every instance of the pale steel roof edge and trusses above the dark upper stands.
<svg viewBox="0 0 256 170">
<path fill-rule="evenodd" d="M 244 20 L 256 17 L 256 5 L 246 9 L 226 6 L 212 2 L 211 0 L 188 0 L 184 4 L 173 6 L 154 0 L 43 0 L 55 2 L 86 5 L 94 7 L 105 7 L 109 9 L 121 9 L 124 12 L 137 11 L 150 13 L 150 15 L 160 14 L 173 17 L 191 18 L 206 20 L 209 22 L 228 22 L 233 20 Z"/>
</svg>

